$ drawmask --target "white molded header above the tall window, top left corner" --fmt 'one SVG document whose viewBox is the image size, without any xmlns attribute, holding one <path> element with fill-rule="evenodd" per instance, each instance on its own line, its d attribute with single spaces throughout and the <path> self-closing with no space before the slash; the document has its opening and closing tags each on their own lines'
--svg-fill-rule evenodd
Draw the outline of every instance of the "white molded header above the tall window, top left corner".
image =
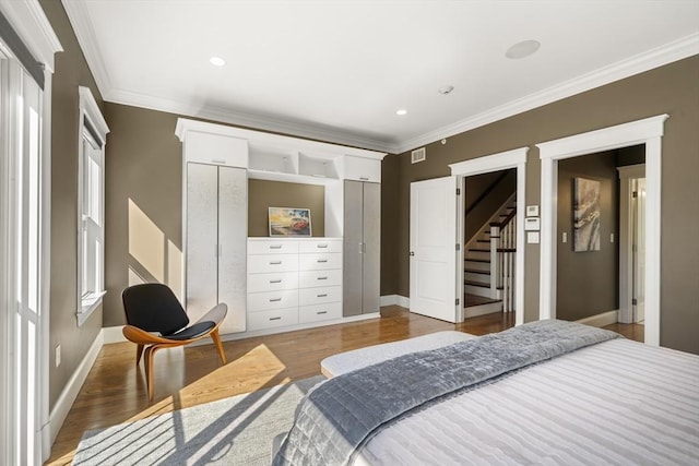
<svg viewBox="0 0 699 466">
<path fill-rule="evenodd" d="M 44 63 L 52 73 L 54 55 L 63 51 L 63 47 L 38 0 L 0 0 L 0 11 L 34 55 L 34 59 Z"/>
</svg>

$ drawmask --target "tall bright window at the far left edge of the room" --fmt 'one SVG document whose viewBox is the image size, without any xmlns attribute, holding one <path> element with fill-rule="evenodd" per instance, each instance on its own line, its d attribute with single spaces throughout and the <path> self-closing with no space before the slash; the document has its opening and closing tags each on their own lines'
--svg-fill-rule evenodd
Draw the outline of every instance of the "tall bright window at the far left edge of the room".
<svg viewBox="0 0 699 466">
<path fill-rule="evenodd" d="M 43 92 L 0 40 L 0 463 L 38 464 Z M 5 382 L 7 381 L 7 382 Z"/>
</svg>

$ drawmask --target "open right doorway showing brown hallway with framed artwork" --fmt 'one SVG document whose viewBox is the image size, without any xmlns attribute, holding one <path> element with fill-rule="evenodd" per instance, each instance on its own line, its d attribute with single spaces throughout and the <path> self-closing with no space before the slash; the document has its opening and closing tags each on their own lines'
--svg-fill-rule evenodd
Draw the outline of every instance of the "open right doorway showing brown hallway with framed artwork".
<svg viewBox="0 0 699 466">
<path fill-rule="evenodd" d="M 643 332 L 644 159 L 637 145 L 559 160 L 558 319 Z"/>
</svg>

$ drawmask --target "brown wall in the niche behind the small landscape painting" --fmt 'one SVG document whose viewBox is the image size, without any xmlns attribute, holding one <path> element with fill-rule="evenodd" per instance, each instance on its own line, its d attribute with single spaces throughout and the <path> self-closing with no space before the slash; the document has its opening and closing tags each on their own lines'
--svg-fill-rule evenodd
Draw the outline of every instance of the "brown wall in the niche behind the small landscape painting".
<svg viewBox="0 0 699 466">
<path fill-rule="evenodd" d="M 311 236 L 325 236 L 325 188 L 248 180 L 248 236 L 270 236 L 268 207 L 310 208 Z"/>
</svg>

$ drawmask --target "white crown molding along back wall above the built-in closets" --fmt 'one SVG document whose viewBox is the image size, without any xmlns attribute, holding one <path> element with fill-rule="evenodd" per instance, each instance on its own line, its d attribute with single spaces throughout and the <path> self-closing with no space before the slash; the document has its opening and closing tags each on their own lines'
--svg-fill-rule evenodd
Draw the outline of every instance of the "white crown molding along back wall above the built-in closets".
<svg viewBox="0 0 699 466">
<path fill-rule="evenodd" d="M 250 129 L 271 131 L 353 147 L 368 148 L 371 151 L 387 152 L 391 154 L 396 153 L 396 146 L 387 142 L 358 138 L 354 134 L 341 131 L 320 129 L 312 124 L 300 124 L 274 118 L 259 117 L 256 115 L 236 112 L 212 106 L 185 104 L 178 100 L 153 97 L 128 91 L 112 89 L 107 94 L 103 93 L 103 98 L 106 101 L 114 104 L 167 111 L 169 113 L 176 113 L 183 117 L 202 118 L 205 120 L 218 121 Z"/>
</svg>

